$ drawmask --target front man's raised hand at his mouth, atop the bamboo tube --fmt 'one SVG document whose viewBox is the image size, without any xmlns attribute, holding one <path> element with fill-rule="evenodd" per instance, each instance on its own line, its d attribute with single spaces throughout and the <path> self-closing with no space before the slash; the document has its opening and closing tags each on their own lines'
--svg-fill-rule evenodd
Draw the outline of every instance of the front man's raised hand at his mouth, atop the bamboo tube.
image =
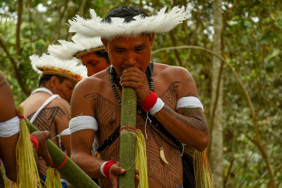
<svg viewBox="0 0 282 188">
<path fill-rule="evenodd" d="M 120 77 L 120 85 L 122 87 L 134 88 L 137 93 L 137 100 L 140 103 L 142 103 L 150 93 L 146 74 L 137 67 L 127 68 L 123 72 Z"/>
</svg>

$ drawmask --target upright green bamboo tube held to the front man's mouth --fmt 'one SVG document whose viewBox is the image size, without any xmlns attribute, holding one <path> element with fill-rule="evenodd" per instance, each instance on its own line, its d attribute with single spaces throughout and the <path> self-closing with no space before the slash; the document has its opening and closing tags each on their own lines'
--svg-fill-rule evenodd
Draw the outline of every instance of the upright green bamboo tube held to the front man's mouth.
<svg viewBox="0 0 282 188">
<path fill-rule="evenodd" d="M 136 128 L 137 95 L 133 88 L 122 88 L 120 128 Z M 120 167 L 126 169 L 120 176 L 119 188 L 135 188 L 136 133 L 132 129 L 120 131 Z"/>
</svg>

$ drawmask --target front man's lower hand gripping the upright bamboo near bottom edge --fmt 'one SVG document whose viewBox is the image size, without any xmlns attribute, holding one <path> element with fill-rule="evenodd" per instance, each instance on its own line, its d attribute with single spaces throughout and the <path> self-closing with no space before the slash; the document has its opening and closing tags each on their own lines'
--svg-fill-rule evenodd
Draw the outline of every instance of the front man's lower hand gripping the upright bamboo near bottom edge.
<svg viewBox="0 0 282 188">
<path fill-rule="evenodd" d="M 120 175 L 125 173 L 125 169 L 119 167 L 118 164 L 113 164 L 110 168 L 110 179 L 113 185 L 113 188 L 118 188 L 118 180 Z M 139 170 L 135 169 L 135 188 L 139 185 Z"/>
</svg>

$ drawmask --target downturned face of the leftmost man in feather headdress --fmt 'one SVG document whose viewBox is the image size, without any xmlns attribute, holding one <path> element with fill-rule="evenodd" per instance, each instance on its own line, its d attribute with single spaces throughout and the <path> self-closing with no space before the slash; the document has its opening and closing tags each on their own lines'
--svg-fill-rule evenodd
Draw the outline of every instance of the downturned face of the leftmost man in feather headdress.
<svg viewBox="0 0 282 188">
<path fill-rule="evenodd" d="M 56 88 L 54 88 L 56 93 L 54 94 L 60 95 L 61 98 L 70 103 L 71 95 L 73 93 L 73 88 L 75 85 L 76 83 L 74 81 L 68 79 L 63 80 L 62 83 L 57 82 Z"/>
</svg>

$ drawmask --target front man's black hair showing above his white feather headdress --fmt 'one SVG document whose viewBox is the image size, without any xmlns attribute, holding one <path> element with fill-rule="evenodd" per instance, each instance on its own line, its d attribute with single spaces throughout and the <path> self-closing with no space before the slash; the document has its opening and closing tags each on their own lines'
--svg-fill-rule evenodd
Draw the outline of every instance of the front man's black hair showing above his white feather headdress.
<svg viewBox="0 0 282 188">
<path fill-rule="evenodd" d="M 134 16 L 142 14 L 142 18 L 145 18 L 149 16 L 147 12 L 139 7 L 136 6 L 121 6 L 121 7 L 115 7 L 111 9 L 105 18 L 101 21 L 102 23 L 112 23 L 111 17 L 119 17 L 119 18 L 124 18 L 125 22 L 130 22 L 133 19 Z"/>
</svg>

